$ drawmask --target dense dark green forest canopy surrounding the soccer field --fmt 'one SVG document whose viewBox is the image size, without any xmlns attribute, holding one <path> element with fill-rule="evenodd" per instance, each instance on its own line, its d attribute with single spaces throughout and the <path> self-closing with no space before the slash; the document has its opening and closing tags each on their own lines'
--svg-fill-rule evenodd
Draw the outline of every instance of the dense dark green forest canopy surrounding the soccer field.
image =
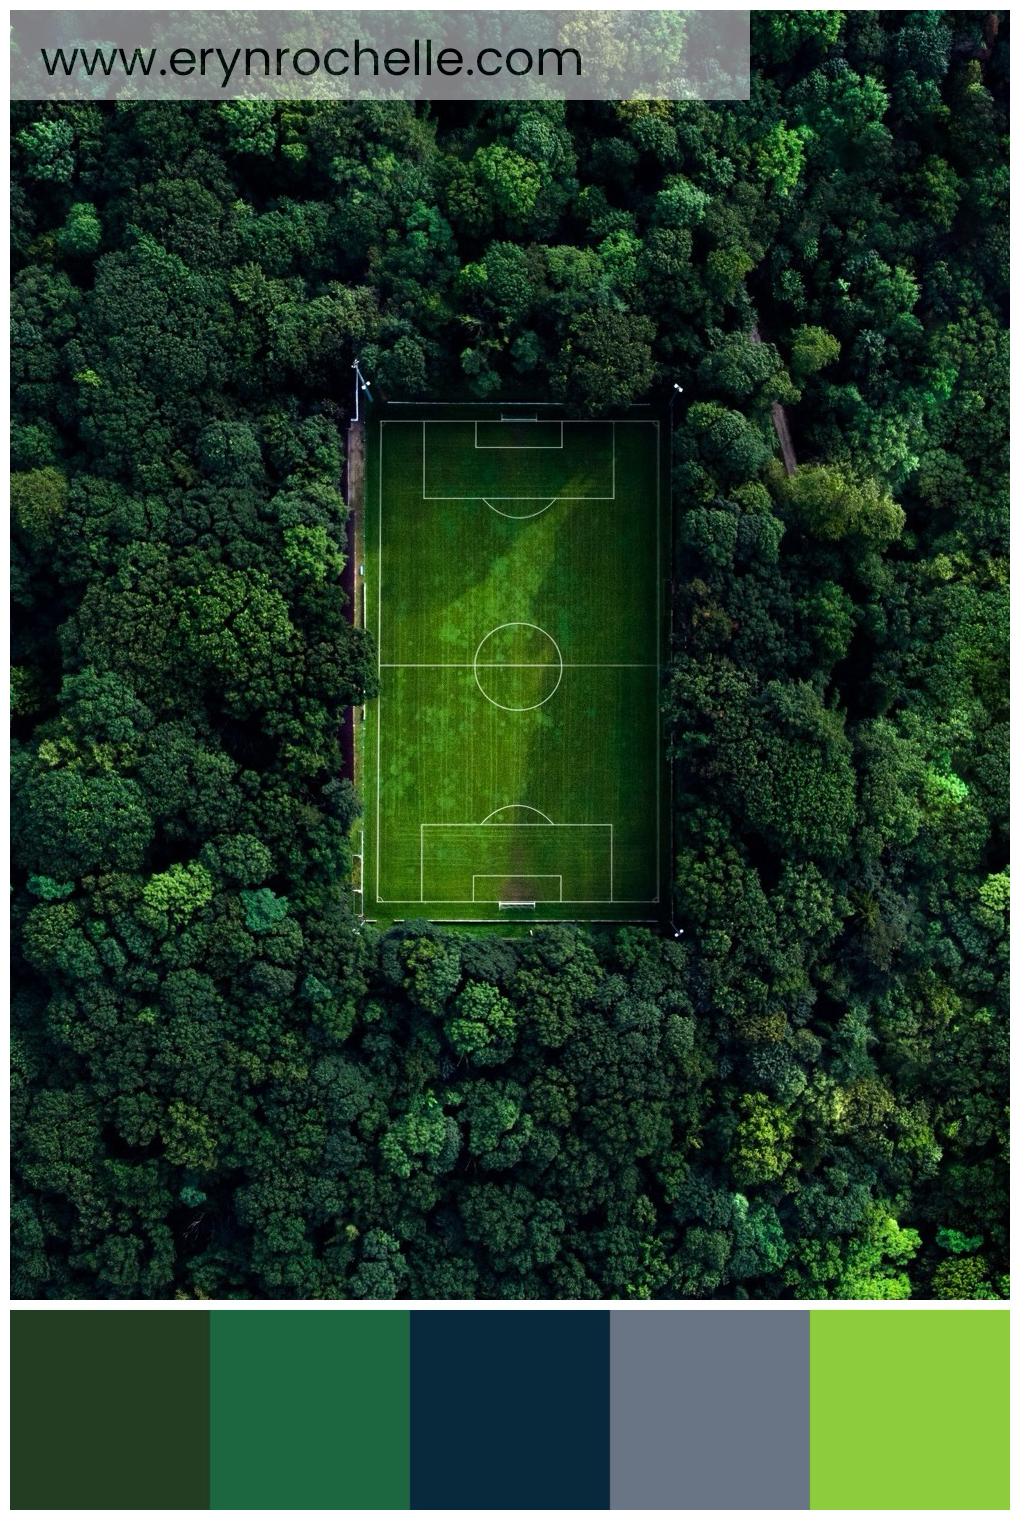
<svg viewBox="0 0 1020 1520">
<path fill-rule="evenodd" d="M 15 105 L 15 1295 L 1008 1294 L 1006 33 L 760 12 L 731 105 Z M 684 385 L 672 929 L 359 921 L 356 354 Z"/>
</svg>

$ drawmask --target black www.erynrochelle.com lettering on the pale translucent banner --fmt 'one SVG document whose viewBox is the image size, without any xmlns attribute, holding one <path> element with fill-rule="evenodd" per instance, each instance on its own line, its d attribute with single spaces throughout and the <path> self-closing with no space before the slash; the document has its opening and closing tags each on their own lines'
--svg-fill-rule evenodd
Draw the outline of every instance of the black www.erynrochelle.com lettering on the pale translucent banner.
<svg viewBox="0 0 1020 1520">
<path fill-rule="evenodd" d="M 502 53 L 499 47 L 482 47 L 473 58 L 465 59 L 458 47 L 435 47 L 426 38 L 413 38 L 409 47 L 388 47 L 385 52 L 369 47 L 356 40 L 353 47 L 330 47 L 324 53 L 313 47 L 175 47 L 166 53 L 160 62 L 158 47 L 135 47 L 128 53 L 123 47 L 73 47 L 70 55 L 62 47 L 40 49 L 43 65 L 50 78 L 64 74 L 73 78 L 79 68 L 93 78 L 103 74 L 123 74 L 132 78 L 141 74 L 149 79 L 152 74 L 173 74 L 187 79 L 198 74 L 202 79 L 219 78 L 222 90 L 226 90 L 231 79 L 268 79 L 271 74 L 299 74 L 307 79 L 313 74 L 330 74 L 342 78 L 350 74 L 354 79 L 379 79 L 389 74 L 400 79 L 406 74 L 415 79 L 429 79 L 433 74 L 456 78 L 458 74 L 482 74 L 486 79 L 502 73 L 523 78 L 526 74 L 555 76 L 561 79 L 564 73 L 573 70 L 573 78 L 581 78 L 581 53 L 576 47 L 540 47 L 531 52 L 527 47 L 511 47 Z"/>
</svg>

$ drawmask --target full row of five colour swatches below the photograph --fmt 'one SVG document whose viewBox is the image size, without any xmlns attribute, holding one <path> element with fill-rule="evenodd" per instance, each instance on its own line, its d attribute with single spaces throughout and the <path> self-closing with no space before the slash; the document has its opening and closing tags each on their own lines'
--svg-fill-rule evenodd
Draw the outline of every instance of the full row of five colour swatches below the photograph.
<svg viewBox="0 0 1020 1520">
<path fill-rule="evenodd" d="M 1009 1503 L 1008 1310 L 330 1304 L 11 1321 L 12 1508 Z"/>
</svg>

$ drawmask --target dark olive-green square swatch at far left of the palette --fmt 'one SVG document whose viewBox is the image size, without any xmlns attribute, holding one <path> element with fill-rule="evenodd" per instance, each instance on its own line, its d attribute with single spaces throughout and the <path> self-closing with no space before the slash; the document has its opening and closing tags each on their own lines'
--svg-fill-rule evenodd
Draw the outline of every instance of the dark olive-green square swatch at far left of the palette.
<svg viewBox="0 0 1020 1520">
<path fill-rule="evenodd" d="M 205 1509 L 208 1315 L 11 1313 L 11 1508 Z"/>
</svg>

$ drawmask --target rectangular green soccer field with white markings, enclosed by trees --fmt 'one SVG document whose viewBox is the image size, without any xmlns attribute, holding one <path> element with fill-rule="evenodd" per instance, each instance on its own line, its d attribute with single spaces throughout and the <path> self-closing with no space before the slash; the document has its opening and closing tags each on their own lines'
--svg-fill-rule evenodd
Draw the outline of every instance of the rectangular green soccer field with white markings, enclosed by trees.
<svg viewBox="0 0 1020 1520">
<path fill-rule="evenodd" d="M 655 920 L 658 423 L 464 412 L 369 424 L 365 917 Z"/>
</svg>

